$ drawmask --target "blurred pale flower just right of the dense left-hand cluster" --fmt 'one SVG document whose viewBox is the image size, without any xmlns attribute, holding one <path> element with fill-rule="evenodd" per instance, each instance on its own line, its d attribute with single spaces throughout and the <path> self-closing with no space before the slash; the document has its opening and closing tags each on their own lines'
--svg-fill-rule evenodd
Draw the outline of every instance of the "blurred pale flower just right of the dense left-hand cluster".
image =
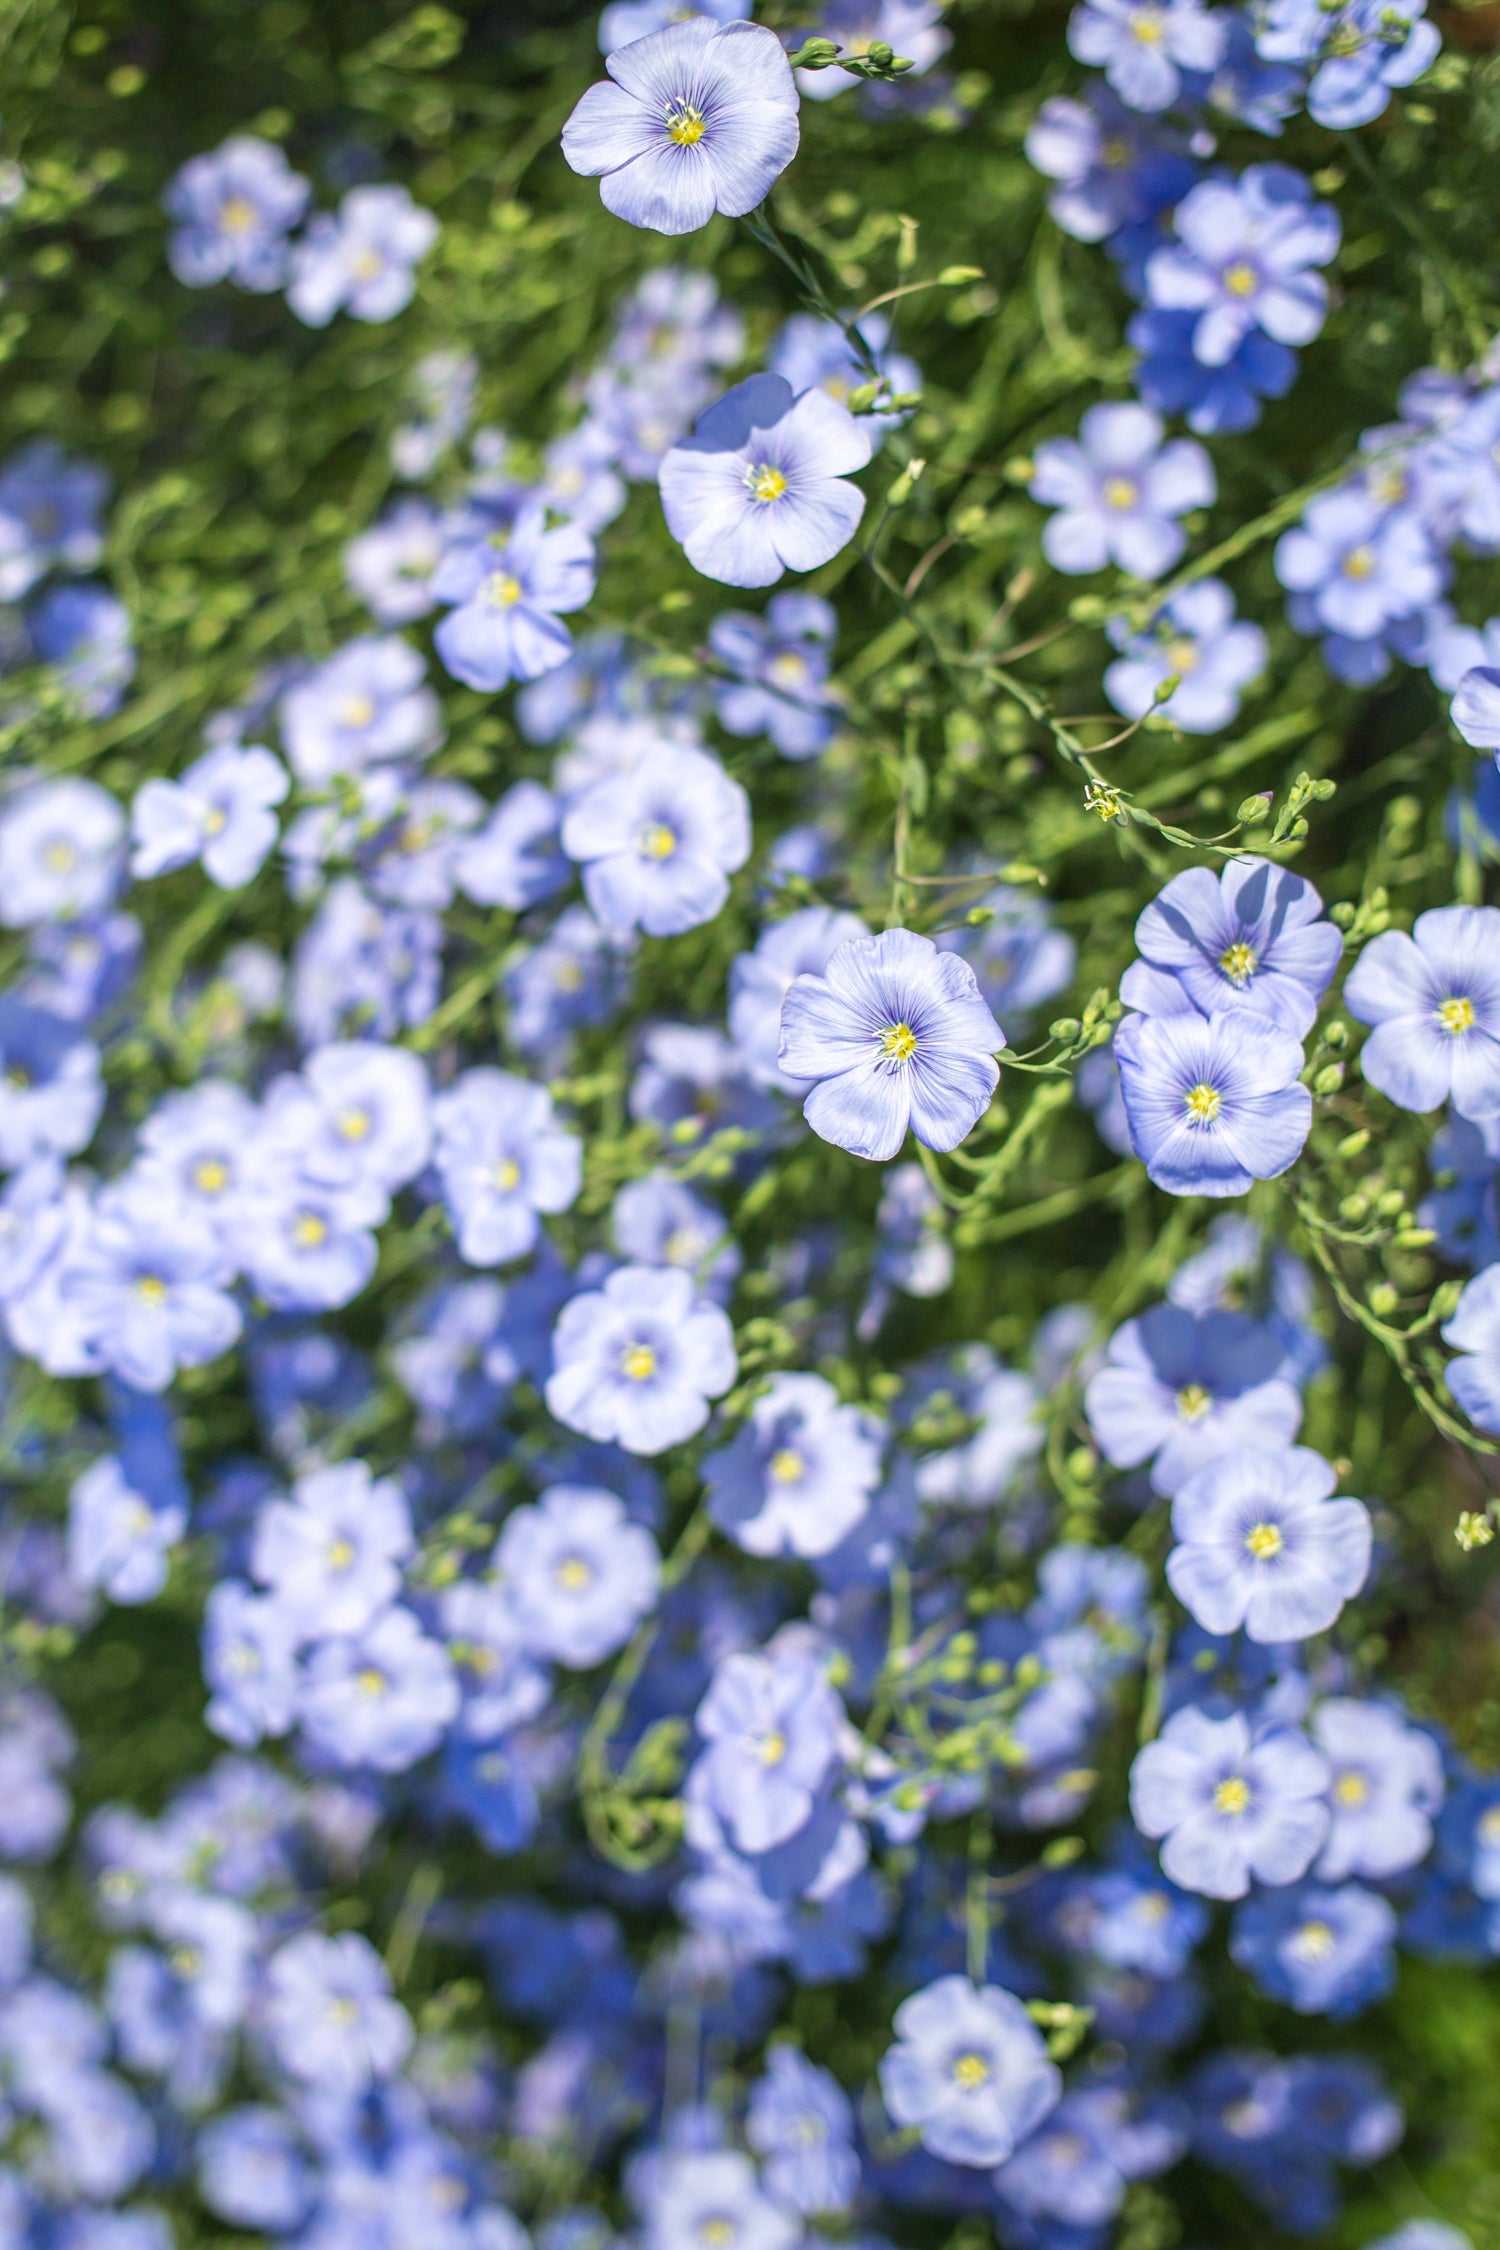
<svg viewBox="0 0 1500 2250">
<path fill-rule="evenodd" d="M 582 1145 L 553 1118 L 546 1087 L 488 1066 L 466 1071 L 432 1105 L 436 1170 L 466 1264 L 524 1258 L 537 1213 L 567 1210 Z"/>
</svg>

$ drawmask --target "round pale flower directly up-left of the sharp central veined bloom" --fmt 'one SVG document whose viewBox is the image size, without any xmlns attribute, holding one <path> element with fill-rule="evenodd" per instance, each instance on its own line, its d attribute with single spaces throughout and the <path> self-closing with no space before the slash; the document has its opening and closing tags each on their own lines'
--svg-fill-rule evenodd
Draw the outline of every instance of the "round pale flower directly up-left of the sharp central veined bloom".
<svg viewBox="0 0 1500 2250">
<path fill-rule="evenodd" d="M 562 819 L 589 907 L 614 938 L 711 922 L 751 853 L 749 796 L 706 749 L 666 747 L 596 781 Z"/>
</svg>

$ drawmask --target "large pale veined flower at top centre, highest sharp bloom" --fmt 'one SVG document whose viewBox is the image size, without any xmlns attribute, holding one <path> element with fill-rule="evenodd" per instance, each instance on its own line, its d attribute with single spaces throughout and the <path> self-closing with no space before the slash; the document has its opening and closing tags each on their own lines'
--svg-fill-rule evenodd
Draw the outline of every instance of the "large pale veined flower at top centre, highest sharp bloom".
<svg viewBox="0 0 1500 2250">
<path fill-rule="evenodd" d="M 562 155 L 616 218 L 690 234 L 740 218 L 796 155 L 796 86 L 774 32 L 690 16 L 616 47 L 562 128 Z"/>
</svg>

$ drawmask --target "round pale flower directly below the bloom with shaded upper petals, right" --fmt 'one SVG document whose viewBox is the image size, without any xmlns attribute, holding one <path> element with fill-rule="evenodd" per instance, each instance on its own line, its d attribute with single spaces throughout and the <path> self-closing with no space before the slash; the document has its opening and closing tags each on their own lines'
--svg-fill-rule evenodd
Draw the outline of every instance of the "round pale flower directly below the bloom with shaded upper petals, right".
<svg viewBox="0 0 1500 2250">
<path fill-rule="evenodd" d="M 1363 1501 L 1304 1444 L 1239 1447 L 1190 1476 L 1172 1503 L 1167 1584 L 1208 1634 L 1307 1640 L 1334 1624 L 1370 1575 Z"/>
</svg>

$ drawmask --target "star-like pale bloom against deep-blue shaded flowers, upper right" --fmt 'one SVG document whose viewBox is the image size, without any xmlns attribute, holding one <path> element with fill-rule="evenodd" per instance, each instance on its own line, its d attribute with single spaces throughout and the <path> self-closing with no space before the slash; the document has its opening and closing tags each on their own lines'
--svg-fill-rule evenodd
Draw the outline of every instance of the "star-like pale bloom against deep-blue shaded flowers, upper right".
<svg viewBox="0 0 1500 2250">
<path fill-rule="evenodd" d="M 1313 268 L 1338 254 L 1340 225 L 1300 171 L 1250 164 L 1239 180 L 1203 180 L 1172 227 L 1176 243 L 1147 259 L 1147 295 L 1196 315 L 1194 358 L 1223 367 L 1253 328 L 1277 344 L 1311 344 L 1329 306 Z"/>
</svg>

